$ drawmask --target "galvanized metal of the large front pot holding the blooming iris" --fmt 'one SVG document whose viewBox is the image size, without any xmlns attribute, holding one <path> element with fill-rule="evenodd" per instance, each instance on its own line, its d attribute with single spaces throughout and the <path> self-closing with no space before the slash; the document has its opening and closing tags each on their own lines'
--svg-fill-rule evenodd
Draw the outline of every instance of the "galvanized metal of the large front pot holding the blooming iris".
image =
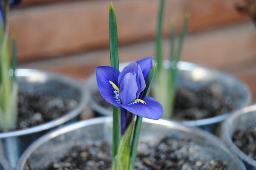
<svg viewBox="0 0 256 170">
<path fill-rule="evenodd" d="M 209 159 L 216 158 L 225 161 L 227 170 L 245 170 L 244 164 L 227 149 L 224 142 L 210 133 L 166 120 L 144 119 L 140 140 L 158 142 L 157 140 L 165 136 L 190 139 L 204 148 L 202 156 L 206 151 L 206 157 L 212 156 Z M 16 170 L 27 170 L 27 162 L 31 169 L 42 169 L 51 161 L 58 161 L 76 144 L 103 140 L 111 142 L 111 139 L 112 117 L 77 122 L 50 132 L 31 144 L 21 156 Z"/>
</svg>

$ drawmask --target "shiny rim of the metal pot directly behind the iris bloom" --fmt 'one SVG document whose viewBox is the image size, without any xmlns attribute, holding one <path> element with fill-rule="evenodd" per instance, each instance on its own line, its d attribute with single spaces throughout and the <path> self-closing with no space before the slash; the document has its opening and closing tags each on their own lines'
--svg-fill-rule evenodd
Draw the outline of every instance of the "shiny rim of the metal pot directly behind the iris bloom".
<svg viewBox="0 0 256 170">
<path fill-rule="evenodd" d="M 128 62 L 122 63 L 121 65 L 127 65 Z M 165 60 L 163 62 L 164 67 L 168 68 L 168 66 L 170 65 L 170 61 L 169 60 Z M 218 74 L 222 74 L 222 75 L 226 75 L 229 77 L 232 77 L 232 79 L 235 79 L 237 81 L 237 83 L 241 84 L 243 86 L 243 88 L 245 89 L 245 92 L 247 93 L 247 99 L 246 101 L 243 103 L 243 105 L 241 106 L 241 108 L 244 108 L 248 105 L 250 105 L 251 101 L 252 101 L 252 94 L 250 91 L 250 88 L 243 83 L 240 79 L 238 79 L 237 77 L 232 76 L 231 74 L 228 74 L 224 71 L 219 71 L 217 69 L 214 68 L 207 68 L 205 66 L 199 65 L 199 64 L 195 64 L 195 63 L 191 63 L 191 62 L 183 62 L 180 61 L 177 64 L 177 67 L 180 70 L 184 70 L 184 71 L 193 71 L 195 68 L 200 68 L 203 70 L 209 70 L 209 71 L 215 71 Z M 92 88 L 94 86 L 94 82 L 96 82 L 96 76 L 95 74 L 92 74 L 91 77 L 88 79 L 90 88 Z M 98 105 L 97 102 L 94 102 L 93 100 L 90 101 L 90 106 L 91 108 L 93 108 L 95 111 L 99 112 L 99 113 L 107 113 L 107 115 L 111 115 L 112 112 L 108 111 L 107 109 L 103 108 L 102 106 Z M 235 109 L 234 111 L 231 111 L 230 113 L 224 114 L 224 115 L 219 115 L 219 116 L 215 116 L 215 117 L 211 117 L 211 118 L 206 118 L 206 119 L 200 119 L 200 120 L 184 120 L 184 121 L 176 121 L 176 120 L 172 120 L 174 122 L 178 122 L 181 123 L 182 125 L 185 126 L 202 126 L 202 125 L 210 125 L 210 124 L 214 124 L 217 122 L 221 122 L 224 121 L 225 119 L 227 119 L 232 113 L 234 113 L 235 111 L 237 111 L 240 108 Z M 106 115 L 103 115 L 106 116 Z"/>
</svg>

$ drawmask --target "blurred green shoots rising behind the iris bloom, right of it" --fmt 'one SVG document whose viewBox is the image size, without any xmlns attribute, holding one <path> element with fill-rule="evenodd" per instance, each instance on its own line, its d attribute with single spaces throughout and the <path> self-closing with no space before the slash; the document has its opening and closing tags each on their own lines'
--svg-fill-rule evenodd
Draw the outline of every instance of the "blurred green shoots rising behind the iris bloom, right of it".
<svg viewBox="0 0 256 170">
<path fill-rule="evenodd" d="M 177 51 L 175 49 L 176 39 L 176 26 L 174 21 L 171 21 L 170 29 L 170 68 L 164 69 L 162 65 L 162 18 L 164 11 L 165 0 L 160 0 L 159 6 L 159 18 L 156 36 L 156 61 L 159 67 L 156 71 L 156 86 L 154 88 L 154 97 L 162 104 L 164 113 L 163 117 L 170 119 L 174 109 L 174 97 L 176 91 L 177 81 L 177 63 L 180 61 L 182 54 L 183 43 L 187 32 L 188 21 L 190 16 L 185 14 L 182 31 L 179 37 L 179 44 Z"/>
</svg>

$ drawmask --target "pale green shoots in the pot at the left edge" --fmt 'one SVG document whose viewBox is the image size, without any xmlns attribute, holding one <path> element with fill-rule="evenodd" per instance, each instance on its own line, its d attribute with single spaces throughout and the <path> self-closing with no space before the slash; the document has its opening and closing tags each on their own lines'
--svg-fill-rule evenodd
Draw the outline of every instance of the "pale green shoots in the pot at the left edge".
<svg viewBox="0 0 256 170">
<path fill-rule="evenodd" d="M 15 77 L 16 42 L 13 40 L 13 68 L 8 45 L 9 1 L 3 0 L 5 22 L 0 21 L 0 128 L 9 130 L 16 127 L 18 116 L 18 83 Z M 9 75 L 10 71 L 12 75 Z"/>
</svg>

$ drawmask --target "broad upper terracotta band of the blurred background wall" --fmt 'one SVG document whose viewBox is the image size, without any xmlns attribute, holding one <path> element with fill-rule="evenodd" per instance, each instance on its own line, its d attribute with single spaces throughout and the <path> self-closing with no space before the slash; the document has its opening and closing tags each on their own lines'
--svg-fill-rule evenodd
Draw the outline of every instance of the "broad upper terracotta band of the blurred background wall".
<svg viewBox="0 0 256 170">
<path fill-rule="evenodd" d="M 10 16 L 10 33 L 18 40 L 19 61 L 66 56 L 106 48 L 109 44 L 109 0 L 24 0 Z M 114 0 L 121 45 L 153 40 L 158 0 Z M 181 26 L 191 14 L 189 33 L 226 27 L 247 20 L 234 10 L 234 0 L 167 0 L 169 20 Z"/>
</svg>

